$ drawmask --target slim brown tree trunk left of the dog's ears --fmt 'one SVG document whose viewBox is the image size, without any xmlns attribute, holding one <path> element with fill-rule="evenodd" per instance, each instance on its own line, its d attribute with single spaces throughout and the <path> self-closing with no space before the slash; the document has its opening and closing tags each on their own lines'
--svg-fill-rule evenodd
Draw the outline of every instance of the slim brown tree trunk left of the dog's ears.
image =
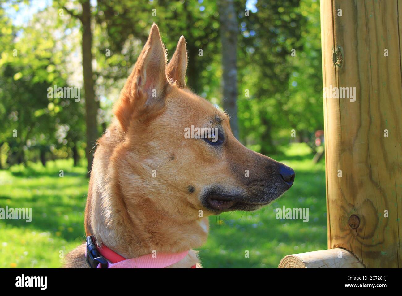
<svg viewBox="0 0 402 296">
<path fill-rule="evenodd" d="M 92 73 L 92 32 L 91 7 L 89 0 L 82 2 L 82 68 L 84 74 L 85 111 L 86 111 L 86 159 L 88 161 L 87 177 L 90 176 L 94 145 L 98 139 L 96 114 L 98 104 L 95 101 L 94 80 Z"/>
</svg>

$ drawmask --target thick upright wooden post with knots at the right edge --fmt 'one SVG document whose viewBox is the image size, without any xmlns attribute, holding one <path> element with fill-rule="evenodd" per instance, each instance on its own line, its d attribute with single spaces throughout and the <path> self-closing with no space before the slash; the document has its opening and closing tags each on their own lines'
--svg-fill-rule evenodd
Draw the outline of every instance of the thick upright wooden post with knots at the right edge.
<svg viewBox="0 0 402 296">
<path fill-rule="evenodd" d="M 328 248 L 402 267 L 402 1 L 320 5 Z"/>
</svg>

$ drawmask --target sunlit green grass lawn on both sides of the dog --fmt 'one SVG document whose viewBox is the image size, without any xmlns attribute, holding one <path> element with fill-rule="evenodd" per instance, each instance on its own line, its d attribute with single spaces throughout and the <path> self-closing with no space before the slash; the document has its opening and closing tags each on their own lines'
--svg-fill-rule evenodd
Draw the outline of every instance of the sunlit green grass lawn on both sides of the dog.
<svg viewBox="0 0 402 296">
<path fill-rule="evenodd" d="M 324 161 L 313 164 L 303 144 L 272 157 L 295 170 L 293 187 L 259 211 L 210 217 L 209 238 L 199 252 L 203 267 L 276 268 L 285 255 L 326 248 Z M 0 219 L 0 268 L 60 267 L 61 257 L 84 240 L 87 190 L 85 168 L 73 168 L 71 159 L 0 171 L 0 207 L 31 207 L 33 216 L 31 223 Z M 275 209 L 283 205 L 309 208 L 310 220 L 276 219 Z"/>
</svg>

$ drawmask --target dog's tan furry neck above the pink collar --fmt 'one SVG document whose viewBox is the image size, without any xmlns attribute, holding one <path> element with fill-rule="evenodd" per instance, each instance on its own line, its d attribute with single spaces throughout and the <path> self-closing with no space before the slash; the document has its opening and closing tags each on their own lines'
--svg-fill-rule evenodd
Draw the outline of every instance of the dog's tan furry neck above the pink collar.
<svg viewBox="0 0 402 296">
<path fill-rule="evenodd" d="M 201 246 L 207 239 L 208 218 L 198 211 L 180 211 L 172 203 L 161 208 L 147 196 L 127 196 L 119 182 L 108 178 L 108 149 L 100 145 L 95 153 L 85 211 L 87 235 L 125 258 L 158 253 L 179 253 Z M 183 203 L 183 201 L 180 201 Z"/>
</svg>

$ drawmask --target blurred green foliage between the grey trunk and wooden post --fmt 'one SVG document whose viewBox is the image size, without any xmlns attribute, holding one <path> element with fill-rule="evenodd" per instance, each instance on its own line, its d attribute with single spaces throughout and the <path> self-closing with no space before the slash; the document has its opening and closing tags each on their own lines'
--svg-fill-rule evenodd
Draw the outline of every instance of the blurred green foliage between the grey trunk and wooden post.
<svg viewBox="0 0 402 296">
<path fill-rule="evenodd" d="M 256 9 L 239 12 L 240 137 L 269 154 L 293 129 L 299 139 L 323 129 L 320 14 L 315 0 L 258 1 Z"/>
</svg>

